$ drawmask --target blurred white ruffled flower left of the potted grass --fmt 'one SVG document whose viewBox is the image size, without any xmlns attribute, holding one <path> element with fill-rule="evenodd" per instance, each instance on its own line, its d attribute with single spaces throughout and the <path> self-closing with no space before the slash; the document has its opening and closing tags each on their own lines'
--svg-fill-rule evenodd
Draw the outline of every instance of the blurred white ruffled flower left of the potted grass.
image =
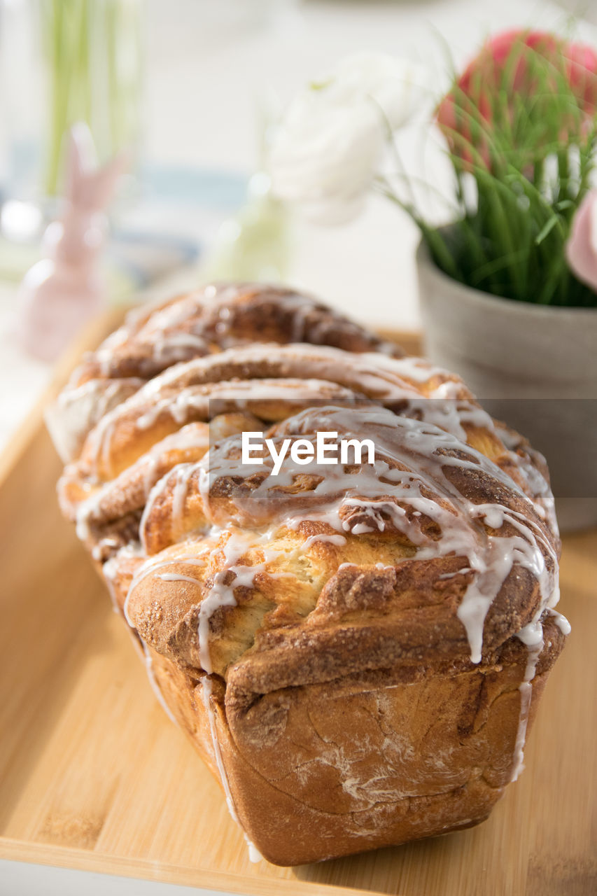
<svg viewBox="0 0 597 896">
<path fill-rule="evenodd" d="M 301 90 L 273 140 L 273 192 L 311 220 L 341 223 L 360 211 L 378 169 L 388 127 L 420 105 L 420 68 L 383 54 L 344 59 Z"/>
</svg>

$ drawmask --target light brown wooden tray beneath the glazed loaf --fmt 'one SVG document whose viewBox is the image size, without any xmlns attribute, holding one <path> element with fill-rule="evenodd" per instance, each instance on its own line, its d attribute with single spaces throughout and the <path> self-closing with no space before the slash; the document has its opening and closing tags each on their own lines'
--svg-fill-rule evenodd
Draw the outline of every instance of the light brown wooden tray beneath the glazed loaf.
<svg viewBox="0 0 597 896">
<path fill-rule="evenodd" d="M 415 348 L 412 336 L 394 337 Z M 255 894 L 597 892 L 597 531 L 566 539 L 561 608 L 573 633 L 546 688 L 527 769 L 489 821 L 278 868 L 249 863 L 220 789 L 151 693 L 58 513 L 59 470 L 39 408 L 0 462 L 0 857 Z"/>
</svg>

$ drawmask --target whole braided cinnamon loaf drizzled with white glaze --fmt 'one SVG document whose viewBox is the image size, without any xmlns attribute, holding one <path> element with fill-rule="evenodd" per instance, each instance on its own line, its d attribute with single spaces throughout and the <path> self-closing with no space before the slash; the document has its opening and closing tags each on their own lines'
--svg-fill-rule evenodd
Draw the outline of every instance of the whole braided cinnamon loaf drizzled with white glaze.
<svg viewBox="0 0 597 896">
<path fill-rule="evenodd" d="M 62 510 L 264 857 L 488 816 L 568 626 L 544 461 L 458 377 L 307 297 L 207 287 L 132 315 L 51 419 Z"/>
</svg>

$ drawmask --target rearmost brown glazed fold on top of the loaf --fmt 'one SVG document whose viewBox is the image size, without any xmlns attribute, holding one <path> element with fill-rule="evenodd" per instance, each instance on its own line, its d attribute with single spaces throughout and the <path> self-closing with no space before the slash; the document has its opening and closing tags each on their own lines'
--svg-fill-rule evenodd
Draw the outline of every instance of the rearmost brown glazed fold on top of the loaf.
<svg viewBox="0 0 597 896">
<path fill-rule="evenodd" d="M 255 341 L 402 355 L 393 343 L 291 289 L 210 284 L 129 312 L 125 323 L 83 358 L 48 413 L 56 450 L 63 461 L 74 461 L 99 418 L 162 370 Z"/>
</svg>

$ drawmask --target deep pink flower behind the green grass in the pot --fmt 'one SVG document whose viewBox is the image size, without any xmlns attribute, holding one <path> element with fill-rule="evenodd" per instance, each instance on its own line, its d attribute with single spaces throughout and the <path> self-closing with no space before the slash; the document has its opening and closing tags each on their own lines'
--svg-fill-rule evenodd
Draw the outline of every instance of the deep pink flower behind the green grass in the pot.
<svg viewBox="0 0 597 896">
<path fill-rule="evenodd" d="M 515 101 L 520 98 L 531 100 L 540 90 L 543 96 L 557 95 L 562 78 L 581 113 L 594 116 L 597 53 L 592 47 L 568 43 L 545 31 L 509 30 L 489 39 L 437 108 L 437 124 L 450 151 L 469 166 L 491 167 L 492 128 L 498 133 L 512 122 Z M 530 108 L 531 103 L 526 106 Z M 563 128 L 560 120 L 559 138 L 572 139 L 575 126 L 572 116 Z"/>
</svg>

